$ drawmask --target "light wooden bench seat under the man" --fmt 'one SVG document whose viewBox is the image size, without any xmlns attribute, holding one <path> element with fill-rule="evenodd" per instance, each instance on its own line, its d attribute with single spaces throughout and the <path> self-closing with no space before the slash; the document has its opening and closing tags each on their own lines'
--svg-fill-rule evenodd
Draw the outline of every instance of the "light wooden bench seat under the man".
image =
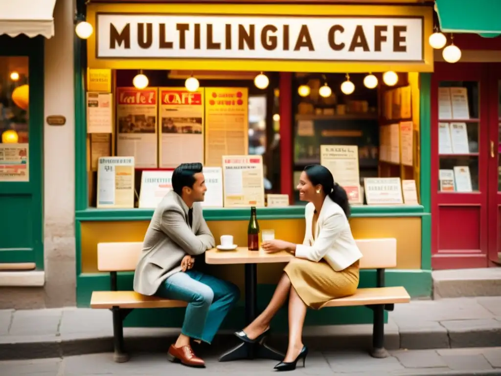
<svg viewBox="0 0 501 376">
<path fill-rule="evenodd" d="M 120 308 L 177 308 L 186 307 L 181 300 L 162 299 L 157 296 L 141 295 L 135 291 L 94 291 L 91 307 L 101 309 Z"/>
</svg>

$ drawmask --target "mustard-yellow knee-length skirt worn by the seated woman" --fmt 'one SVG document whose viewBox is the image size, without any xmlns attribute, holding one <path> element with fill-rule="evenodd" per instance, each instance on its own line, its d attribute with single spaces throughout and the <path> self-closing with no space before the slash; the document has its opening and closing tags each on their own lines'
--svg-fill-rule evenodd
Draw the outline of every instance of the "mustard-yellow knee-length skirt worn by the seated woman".
<svg viewBox="0 0 501 376">
<path fill-rule="evenodd" d="M 336 272 L 325 260 L 294 259 L 284 271 L 301 299 L 313 309 L 319 309 L 329 300 L 353 295 L 360 277 L 359 261 Z"/>
</svg>

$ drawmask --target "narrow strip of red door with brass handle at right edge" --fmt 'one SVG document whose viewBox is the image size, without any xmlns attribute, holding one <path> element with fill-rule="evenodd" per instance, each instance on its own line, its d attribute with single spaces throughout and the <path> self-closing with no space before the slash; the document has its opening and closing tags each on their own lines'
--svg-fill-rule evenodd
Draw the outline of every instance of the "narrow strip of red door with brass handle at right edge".
<svg viewBox="0 0 501 376">
<path fill-rule="evenodd" d="M 501 64 L 489 64 L 488 258 L 501 265 Z"/>
</svg>

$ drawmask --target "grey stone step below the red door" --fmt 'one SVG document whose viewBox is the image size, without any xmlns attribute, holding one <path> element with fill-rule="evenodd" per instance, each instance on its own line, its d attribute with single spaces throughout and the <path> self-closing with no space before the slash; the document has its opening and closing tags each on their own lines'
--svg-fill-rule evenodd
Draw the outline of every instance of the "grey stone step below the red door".
<svg viewBox="0 0 501 376">
<path fill-rule="evenodd" d="M 501 294 L 501 267 L 434 270 L 433 299 Z"/>
</svg>

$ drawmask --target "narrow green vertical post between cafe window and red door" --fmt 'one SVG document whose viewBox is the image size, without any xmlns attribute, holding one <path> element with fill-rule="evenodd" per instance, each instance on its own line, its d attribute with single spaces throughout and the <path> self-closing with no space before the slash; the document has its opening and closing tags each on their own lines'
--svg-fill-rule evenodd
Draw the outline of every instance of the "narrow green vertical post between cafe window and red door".
<svg viewBox="0 0 501 376">
<path fill-rule="evenodd" d="M 431 74 L 420 74 L 419 119 L 421 136 L 421 269 L 431 270 Z"/>
</svg>

